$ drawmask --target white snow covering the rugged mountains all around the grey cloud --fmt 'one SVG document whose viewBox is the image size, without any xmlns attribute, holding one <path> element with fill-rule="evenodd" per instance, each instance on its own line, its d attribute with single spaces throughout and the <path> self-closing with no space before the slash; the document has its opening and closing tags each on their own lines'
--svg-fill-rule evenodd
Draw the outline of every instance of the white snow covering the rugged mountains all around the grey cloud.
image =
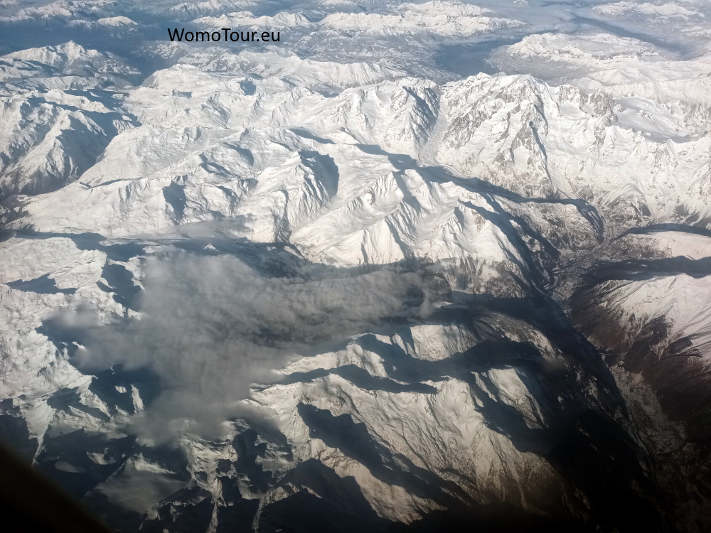
<svg viewBox="0 0 711 533">
<path fill-rule="evenodd" d="M 443 508 L 437 497 L 388 481 L 367 454 L 314 431 L 309 416 L 317 415 L 309 413 L 317 412 L 362 430 L 391 461 L 383 468 L 432 473 L 455 500 L 587 517 L 585 495 L 535 453 L 533 436 L 553 421 L 555 402 L 622 418 L 605 411 L 604 380 L 591 370 L 602 357 L 573 364 L 523 311 L 482 311 L 476 302 L 545 294 L 565 308 L 570 287 L 582 284 L 571 276 L 592 266 L 591 257 L 687 265 L 711 256 L 711 55 L 697 49 L 711 14 L 691 1 L 569 4 L 555 11 L 533 1 L 0 1 L 0 31 L 38 24 L 80 32 L 76 42 L 19 49 L 0 41 L 9 50 L 0 55 L 0 230 L 7 233 L 0 399 L 9 402 L 3 414 L 26 421 L 36 458 L 47 441 L 77 429 L 107 443 L 137 435 L 140 449 L 121 455 L 107 444 L 53 468 L 80 475 L 116 464 L 91 493 L 146 519 L 166 505 L 187 505 L 176 503 L 178 491 L 199 488 L 212 499 L 208 531 L 231 505 L 230 486 L 260 500 L 255 529 L 263 509 L 292 492 L 322 498 L 289 477 L 309 461 L 354 480 L 381 519 L 410 523 Z M 675 42 L 646 23 L 631 31 L 646 17 L 685 31 Z M 282 41 L 169 43 L 163 21 L 175 19 L 205 29 L 273 28 Z M 141 42 L 142 35 L 150 37 Z M 109 52 L 97 36 L 135 42 Z M 466 49 L 451 45 L 480 46 L 481 64 L 493 70 L 451 72 L 438 54 Z M 645 226 L 659 230 L 628 232 Z M 336 298 L 326 291 L 332 279 L 374 271 L 406 271 L 417 296 L 384 290 L 383 298 L 402 302 L 384 305 L 387 320 L 355 335 L 318 338 L 314 328 L 289 344 L 266 324 L 270 349 L 285 345 L 271 360 L 279 364 L 255 372 L 270 377 L 247 394 L 223 399 L 245 416 L 221 420 L 220 434 L 193 431 L 201 421 L 188 418 L 210 418 L 224 406 L 198 405 L 185 415 L 190 431 L 166 431 L 186 456 L 187 466 L 177 468 L 151 456 L 164 442 L 141 431 L 151 385 L 102 388 L 106 374 L 76 362 L 82 341 L 59 330 L 151 320 L 134 300 L 151 294 L 146 264 L 180 253 L 234 253 L 245 271 L 274 277 L 277 287 L 303 285 L 304 306 Z M 199 308 L 201 296 L 240 286 L 220 284 L 225 271 L 205 265 L 202 289 L 170 286 L 186 305 Z M 606 281 L 596 305 L 628 340 L 665 318 L 665 346 L 688 338 L 707 364 L 707 274 L 680 269 Z M 278 289 L 263 286 L 281 303 Z M 179 318 L 176 307 L 170 311 Z M 282 311 L 298 314 L 288 301 Z M 471 313 L 471 324 L 437 318 L 458 313 Z M 219 324 L 200 333 L 218 338 Z M 452 370 L 457 357 L 488 350 L 493 340 L 533 347 L 546 368 L 567 368 L 575 394 L 551 395 L 540 375 L 516 362 Z M 229 361 L 223 368 L 235 379 L 249 372 Z M 407 373 L 417 369 L 432 375 Z M 646 402 L 656 409 L 654 398 Z M 497 426 L 511 413 L 518 433 Z M 270 478 L 267 488 L 235 470 L 245 459 L 231 442 L 250 417 L 262 424 L 254 464 Z"/>
</svg>

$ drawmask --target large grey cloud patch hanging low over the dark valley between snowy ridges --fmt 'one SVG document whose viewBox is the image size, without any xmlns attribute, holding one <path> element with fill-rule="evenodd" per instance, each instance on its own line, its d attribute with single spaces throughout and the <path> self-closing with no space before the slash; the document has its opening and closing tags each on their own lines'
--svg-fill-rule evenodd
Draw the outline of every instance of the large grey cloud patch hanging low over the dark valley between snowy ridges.
<svg viewBox="0 0 711 533">
<path fill-rule="evenodd" d="M 249 409 L 239 401 L 250 385 L 276 381 L 289 359 L 388 318 L 417 316 L 417 303 L 408 313 L 406 299 L 425 302 L 417 298 L 422 279 L 412 272 L 325 277 L 302 266 L 289 274 L 265 277 L 229 255 L 150 257 L 140 320 L 97 327 L 81 310 L 57 317 L 55 325 L 85 335 L 76 357 L 82 371 L 122 365 L 156 373 L 161 393 L 133 421 L 142 440 L 218 436 L 220 424 Z"/>
</svg>

